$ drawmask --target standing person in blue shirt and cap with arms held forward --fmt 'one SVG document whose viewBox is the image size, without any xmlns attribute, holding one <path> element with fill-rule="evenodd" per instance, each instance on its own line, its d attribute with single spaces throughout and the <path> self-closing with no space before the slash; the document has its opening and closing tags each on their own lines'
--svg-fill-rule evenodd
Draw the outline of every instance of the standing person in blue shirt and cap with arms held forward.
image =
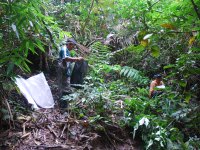
<svg viewBox="0 0 200 150">
<path fill-rule="evenodd" d="M 59 58 L 62 61 L 64 67 L 66 67 L 66 86 L 70 87 L 71 77 L 71 63 L 84 60 L 83 57 L 71 57 L 70 51 L 74 49 L 76 41 L 74 39 L 68 39 L 64 45 L 60 47 Z"/>
</svg>

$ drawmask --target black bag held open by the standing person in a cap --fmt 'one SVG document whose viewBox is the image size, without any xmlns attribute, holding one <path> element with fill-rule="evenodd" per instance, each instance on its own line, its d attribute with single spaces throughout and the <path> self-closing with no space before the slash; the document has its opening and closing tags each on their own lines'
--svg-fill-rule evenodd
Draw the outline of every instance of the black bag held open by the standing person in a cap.
<svg viewBox="0 0 200 150">
<path fill-rule="evenodd" d="M 74 65 L 74 69 L 71 74 L 71 84 L 83 84 L 83 78 L 85 77 L 88 70 L 88 62 L 78 61 Z"/>
</svg>

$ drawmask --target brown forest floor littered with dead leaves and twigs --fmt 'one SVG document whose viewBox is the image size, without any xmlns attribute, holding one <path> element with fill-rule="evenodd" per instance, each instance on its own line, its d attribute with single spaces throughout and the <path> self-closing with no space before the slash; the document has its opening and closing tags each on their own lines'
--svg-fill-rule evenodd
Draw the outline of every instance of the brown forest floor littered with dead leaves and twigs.
<svg viewBox="0 0 200 150">
<path fill-rule="evenodd" d="M 22 95 L 12 93 L 16 102 L 10 104 L 11 110 L 15 110 L 12 112 L 14 121 L 10 122 L 10 129 L 0 131 L 0 149 L 141 149 L 141 143 L 133 141 L 130 131 L 114 122 L 98 120 L 92 123 L 88 117 L 77 117 L 78 115 L 70 109 L 60 109 L 56 78 L 49 77 L 47 81 L 56 103 L 55 108 L 31 111 Z M 76 100 L 75 104 L 79 105 L 80 109 L 88 109 L 79 100 Z M 19 110 L 16 110 L 17 108 Z"/>
</svg>

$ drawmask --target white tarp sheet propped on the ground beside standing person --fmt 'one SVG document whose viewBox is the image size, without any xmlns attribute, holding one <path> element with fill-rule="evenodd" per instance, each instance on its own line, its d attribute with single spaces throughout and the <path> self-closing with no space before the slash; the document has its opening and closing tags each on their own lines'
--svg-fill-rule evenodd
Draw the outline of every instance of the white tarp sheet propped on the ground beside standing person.
<svg viewBox="0 0 200 150">
<path fill-rule="evenodd" d="M 27 80 L 21 77 L 16 78 L 15 83 L 34 109 L 54 107 L 53 96 L 43 73 L 32 76 Z"/>
</svg>

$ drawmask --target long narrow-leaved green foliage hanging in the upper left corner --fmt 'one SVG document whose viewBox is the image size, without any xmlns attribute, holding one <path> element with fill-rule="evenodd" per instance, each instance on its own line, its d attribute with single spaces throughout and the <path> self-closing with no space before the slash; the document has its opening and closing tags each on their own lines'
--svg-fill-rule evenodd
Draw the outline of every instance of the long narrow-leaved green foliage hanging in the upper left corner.
<svg viewBox="0 0 200 150">
<path fill-rule="evenodd" d="M 61 29 L 54 18 L 46 14 L 48 1 L 5 1 L 1 5 L 0 64 L 12 75 L 15 68 L 30 71 L 27 59 L 29 53 L 45 52 L 45 46 L 59 39 Z"/>
</svg>

